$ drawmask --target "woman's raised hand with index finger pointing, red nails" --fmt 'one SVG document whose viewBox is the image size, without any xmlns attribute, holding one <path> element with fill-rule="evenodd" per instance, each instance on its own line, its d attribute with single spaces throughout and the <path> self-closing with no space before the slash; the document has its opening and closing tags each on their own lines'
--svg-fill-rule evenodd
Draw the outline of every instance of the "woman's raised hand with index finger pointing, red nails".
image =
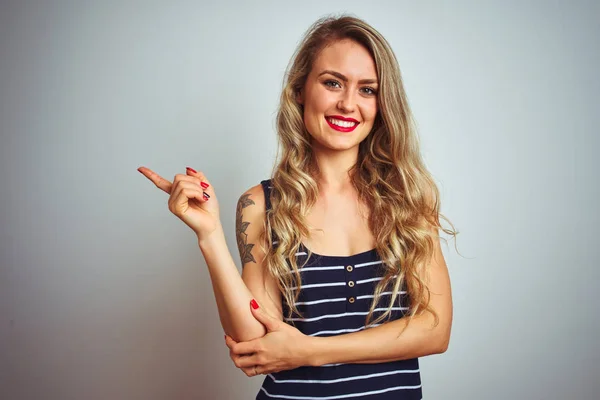
<svg viewBox="0 0 600 400">
<path fill-rule="evenodd" d="M 140 167 L 138 171 L 169 194 L 169 210 L 192 228 L 199 241 L 217 229 L 220 223 L 219 203 L 215 191 L 202 173 L 188 167 L 186 174 L 175 175 L 171 183 L 146 167 Z"/>
</svg>

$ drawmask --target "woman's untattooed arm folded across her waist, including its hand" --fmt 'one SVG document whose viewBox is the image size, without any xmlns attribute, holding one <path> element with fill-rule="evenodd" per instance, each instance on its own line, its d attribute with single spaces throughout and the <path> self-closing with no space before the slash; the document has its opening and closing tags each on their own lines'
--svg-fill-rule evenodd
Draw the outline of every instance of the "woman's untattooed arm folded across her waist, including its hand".
<svg viewBox="0 0 600 400">
<path fill-rule="evenodd" d="M 404 317 L 359 332 L 311 337 L 282 321 L 271 320 L 257 309 L 253 314 L 266 326 L 268 333 L 242 343 L 226 338 L 231 358 L 246 375 L 253 376 L 300 366 L 381 363 L 443 353 L 450 341 L 452 293 L 448 268 L 438 241 L 434 241 L 428 270 L 429 305 L 439 318 L 435 327 L 434 317 L 427 311 L 414 316 L 410 324 L 408 317 Z"/>
</svg>

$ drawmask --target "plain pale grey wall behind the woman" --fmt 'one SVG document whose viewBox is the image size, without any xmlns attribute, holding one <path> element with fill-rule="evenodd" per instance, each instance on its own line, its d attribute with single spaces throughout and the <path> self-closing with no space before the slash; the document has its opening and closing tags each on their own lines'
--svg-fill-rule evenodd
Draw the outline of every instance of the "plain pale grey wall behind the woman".
<svg viewBox="0 0 600 400">
<path fill-rule="evenodd" d="M 204 171 L 237 260 L 287 62 L 343 11 L 395 50 L 461 232 L 424 398 L 597 398 L 597 2 L 57 0 L 0 5 L 0 398 L 254 398 L 194 234 L 136 168 Z"/>
</svg>

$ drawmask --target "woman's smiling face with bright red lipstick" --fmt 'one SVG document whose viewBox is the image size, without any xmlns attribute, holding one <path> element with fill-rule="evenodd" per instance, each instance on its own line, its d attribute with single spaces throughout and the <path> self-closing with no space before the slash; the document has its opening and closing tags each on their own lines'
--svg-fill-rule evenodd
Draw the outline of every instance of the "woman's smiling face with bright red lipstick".
<svg viewBox="0 0 600 400">
<path fill-rule="evenodd" d="M 375 122 L 377 89 L 366 48 L 349 39 L 324 48 L 298 96 L 313 149 L 357 151 Z"/>
</svg>

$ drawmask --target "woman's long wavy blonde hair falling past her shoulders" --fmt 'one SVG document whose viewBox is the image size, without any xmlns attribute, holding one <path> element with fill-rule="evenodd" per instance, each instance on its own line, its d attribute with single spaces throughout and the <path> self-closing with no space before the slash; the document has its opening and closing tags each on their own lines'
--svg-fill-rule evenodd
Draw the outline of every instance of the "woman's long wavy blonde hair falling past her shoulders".
<svg viewBox="0 0 600 400">
<path fill-rule="evenodd" d="M 265 272 L 276 279 L 288 317 L 300 315 L 295 302 L 302 288 L 302 266 L 296 253 L 302 238 L 310 237 L 306 216 L 319 191 L 311 136 L 297 95 L 319 52 L 343 39 L 356 41 L 370 52 L 379 81 L 373 129 L 360 143 L 357 163 L 350 170 L 359 200 L 370 206 L 369 227 L 384 265 L 384 276 L 375 288 L 365 324 L 388 318 L 400 291 L 406 290 L 410 319 L 428 310 L 437 325 L 439 317 L 429 306 L 427 266 L 439 231 L 452 236 L 456 232 L 440 224 L 440 217 L 444 217 L 439 212 L 439 191 L 421 158 L 396 56 L 379 32 L 355 17 L 319 19 L 305 33 L 288 65 L 277 113 L 279 149 L 272 174 L 272 208 L 265 218 Z M 373 320 L 381 293 L 390 289 L 387 310 Z"/>
</svg>

